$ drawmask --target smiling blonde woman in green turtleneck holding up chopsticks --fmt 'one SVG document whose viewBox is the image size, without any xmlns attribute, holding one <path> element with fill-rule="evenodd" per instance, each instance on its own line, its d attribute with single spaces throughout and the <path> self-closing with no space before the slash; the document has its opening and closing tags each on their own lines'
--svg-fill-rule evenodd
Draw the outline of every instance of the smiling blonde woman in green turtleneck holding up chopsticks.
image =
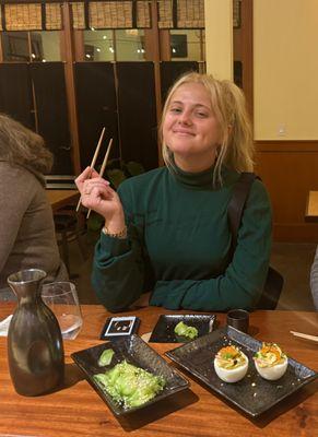
<svg viewBox="0 0 318 437">
<path fill-rule="evenodd" d="M 118 194 L 90 167 L 76 179 L 83 204 L 105 217 L 92 276 L 98 298 L 113 311 L 150 290 L 150 305 L 169 309 L 252 308 L 269 265 L 271 209 L 255 180 L 232 260 L 227 204 L 240 173 L 252 170 L 240 90 L 186 74 L 160 131 L 167 167 L 128 179 Z"/>
</svg>

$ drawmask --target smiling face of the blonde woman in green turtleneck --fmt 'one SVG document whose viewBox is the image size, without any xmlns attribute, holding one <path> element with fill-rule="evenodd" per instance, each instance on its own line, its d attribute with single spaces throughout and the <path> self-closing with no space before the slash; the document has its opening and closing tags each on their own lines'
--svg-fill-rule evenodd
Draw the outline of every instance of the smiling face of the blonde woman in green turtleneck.
<svg viewBox="0 0 318 437">
<path fill-rule="evenodd" d="M 215 161 L 220 126 L 211 99 L 200 83 L 180 85 L 172 96 L 163 122 L 163 138 L 184 170 L 200 172 Z"/>
</svg>

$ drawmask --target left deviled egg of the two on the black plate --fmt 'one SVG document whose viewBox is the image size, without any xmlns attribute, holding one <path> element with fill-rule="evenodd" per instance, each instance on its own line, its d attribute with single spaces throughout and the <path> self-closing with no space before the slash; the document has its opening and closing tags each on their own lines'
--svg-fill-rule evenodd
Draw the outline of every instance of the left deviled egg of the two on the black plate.
<svg viewBox="0 0 318 437">
<path fill-rule="evenodd" d="M 236 346 L 222 347 L 214 358 L 214 369 L 225 382 L 237 382 L 248 369 L 248 357 Z"/>
</svg>

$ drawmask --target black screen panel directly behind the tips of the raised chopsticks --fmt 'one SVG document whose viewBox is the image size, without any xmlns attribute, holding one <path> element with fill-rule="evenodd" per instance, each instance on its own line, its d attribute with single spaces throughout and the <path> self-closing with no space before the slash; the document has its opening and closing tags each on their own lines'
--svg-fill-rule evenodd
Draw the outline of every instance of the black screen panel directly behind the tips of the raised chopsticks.
<svg viewBox="0 0 318 437">
<path fill-rule="evenodd" d="M 102 129 L 106 128 L 97 167 L 110 138 L 109 157 L 119 157 L 114 67 L 110 62 L 76 62 L 74 74 L 82 169 L 90 165 Z"/>
</svg>

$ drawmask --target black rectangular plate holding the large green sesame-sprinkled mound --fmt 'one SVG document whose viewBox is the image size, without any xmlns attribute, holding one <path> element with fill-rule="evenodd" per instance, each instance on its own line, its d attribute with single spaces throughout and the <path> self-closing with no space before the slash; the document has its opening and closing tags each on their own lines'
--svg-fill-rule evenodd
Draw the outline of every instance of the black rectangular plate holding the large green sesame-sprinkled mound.
<svg viewBox="0 0 318 437">
<path fill-rule="evenodd" d="M 99 367 L 97 362 L 102 352 L 106 349 L 113 349 L 115 352 L 111 363 L 108 366 Z M 76 365 L 84 371 L 87 381 L 97 391 L 104 402 L 117 416 L 126 413 L 131 413 L 142 409 L 154 402 L 165 399 L 180 390 L 188 388 L 188 380 L 174 368 L 168 366 L 163 357 L 161 357 L 152 347 L 150 347 L 140 336 L 132 334 L 122 339 L 117 339 L 97 346 L 85 349 L 83 351 L 71 354 L 71 357 Z M 143 405 L 125 409 L 105 391 L 94 380 L 93 376 L 105 373 L 113 368 L 116 364 L 126 359 L 134 366 L 141 367 L 153 375 L 163 376 L 166 380 L 164 389 L 152 400 Z"/>
</svg>

